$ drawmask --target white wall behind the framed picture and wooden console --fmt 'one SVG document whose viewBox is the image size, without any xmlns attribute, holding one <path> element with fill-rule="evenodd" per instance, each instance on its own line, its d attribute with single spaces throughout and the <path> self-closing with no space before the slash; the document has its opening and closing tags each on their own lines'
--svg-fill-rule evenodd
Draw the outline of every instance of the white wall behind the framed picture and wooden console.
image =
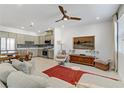
<svg viewBox="0 0 124 93">
<path fill-rule="evenodd" d="M 73 49 L 73 37 L 95 36 L 95 50 L 98 50 L 99 58 L 108 58 L 114 61 L 114 32 L 112 22 L 104 22 L 86 26 L 64 28 L 62 31 L 62 41 L 64 49 Z M 82 49 L 77 49 L 76 53 L 84 53 Z"/>
</svg>

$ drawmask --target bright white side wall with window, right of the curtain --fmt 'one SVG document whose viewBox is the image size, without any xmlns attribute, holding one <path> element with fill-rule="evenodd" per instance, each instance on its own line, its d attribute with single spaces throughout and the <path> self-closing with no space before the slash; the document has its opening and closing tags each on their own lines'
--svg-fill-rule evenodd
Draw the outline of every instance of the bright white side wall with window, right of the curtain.
<svg viewBox="0 0 124 93">
<path fill-rule="evenodd" d="M 124 5 L 121 5 L 118 14 L 118 72 L 124 80 Z"/>
</svg>

